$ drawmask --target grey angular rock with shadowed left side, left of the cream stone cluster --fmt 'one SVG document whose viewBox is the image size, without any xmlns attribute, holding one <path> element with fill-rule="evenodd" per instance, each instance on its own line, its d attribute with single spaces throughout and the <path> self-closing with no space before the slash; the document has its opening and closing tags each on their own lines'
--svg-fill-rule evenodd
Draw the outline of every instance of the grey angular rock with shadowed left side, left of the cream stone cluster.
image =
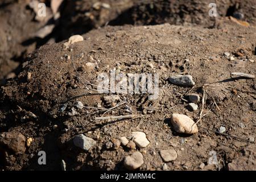
<svg viewBox="0 0 256 182">
<path fill-rule="evenodd" d="M 96 141 L 92 138 L 86 137 L 84 134 L 76 135 L 73 139 L 75 146 L 88 151 L 91 147 L 96 145 Z"/>
</svg>

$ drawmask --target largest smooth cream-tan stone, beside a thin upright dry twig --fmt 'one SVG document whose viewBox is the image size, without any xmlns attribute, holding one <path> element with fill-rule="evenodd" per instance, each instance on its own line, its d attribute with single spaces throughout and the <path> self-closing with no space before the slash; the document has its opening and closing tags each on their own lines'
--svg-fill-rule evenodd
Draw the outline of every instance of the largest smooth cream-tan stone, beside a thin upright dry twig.
<svg viewBox="0 0 256 182">
<path fill-rule="evenodd" d="M 195 122 L 184 114 L 172 114 L 172 126 L 177 133 L 194 134 L 198 132 Z M 192 127 L 193 126 L 193 127 Z"/>
</svg>

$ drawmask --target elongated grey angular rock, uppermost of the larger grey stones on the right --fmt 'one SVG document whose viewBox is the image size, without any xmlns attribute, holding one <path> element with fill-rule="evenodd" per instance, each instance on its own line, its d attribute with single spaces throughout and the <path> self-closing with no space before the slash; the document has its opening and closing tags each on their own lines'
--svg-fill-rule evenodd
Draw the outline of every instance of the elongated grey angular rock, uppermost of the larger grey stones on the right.
<svg viewBox="0 0 256 182">
<path fill-rule="evenodd" d="M 169 78 L 169 81 L 175 85 L 193 86 L 196 83 L 191 75 L 175 75 Z"/>
</svg>

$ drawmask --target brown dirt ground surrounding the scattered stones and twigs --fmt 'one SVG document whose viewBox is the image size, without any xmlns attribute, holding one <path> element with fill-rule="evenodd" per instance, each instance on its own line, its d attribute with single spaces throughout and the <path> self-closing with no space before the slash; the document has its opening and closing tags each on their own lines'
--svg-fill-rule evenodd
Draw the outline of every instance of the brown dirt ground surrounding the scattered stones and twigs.
<svg viewBox="0 0 256 182">
<path fill-rule="evenodd" d="M 49 1 L 42 2 L 50 9 Z M 16 139 L 15 148 L 22 151 L 17 154 L 0 136 L 0 169 L 61 170 L 64 160 L 67 170 L 122 170 L 125 156 L 140 151 L 140 170 L 256 170 L 256 81 L 230 77 L 256 75 L 254 1 L 218 1 L 217 18 L 208 15 L 210 1 L 101 2 L 109 6 L 64 1 L 60 18 L 47 20 L 35 19 L 29 1 L 0 2 L 0 134 L 26 138 Z M 230 18 L 236 13 L 244 17 Z M 37 38 L 35 32 L 47 24 L 54 24 L 52 32 Z M 65 49 L 75 34 L 84 41 Z M 99 94 L 97 76 L 112 69 L 125 75 L 159 73 L 159 97 Z M 171 84 L 168 78 L 177 74 L 191 75 L 196 84 Z M 200 96 L 196 111 L 188 109 L 192 93 Z M 106 96 L 119 99 L 108 103 Z M 85 107 L 77 108 L 77 101 Z M 197 121 L 201 112 L 198 133 L 175 132 L 172 113 Z M 139 117 L 96 118 L 127 114 Z M 150 144 L 118 144 L 133 131 L 143 131 Z M 77 134 L 97 144 L 84 151 L 73 144 Z M 165 163 L 160 151 L 170 148 L 177 158 Z M 38 164 L 39 151 L 46 152 L 47 165 Z M 211 152 L 217 164 L 209 163 Z"/>
</svg>

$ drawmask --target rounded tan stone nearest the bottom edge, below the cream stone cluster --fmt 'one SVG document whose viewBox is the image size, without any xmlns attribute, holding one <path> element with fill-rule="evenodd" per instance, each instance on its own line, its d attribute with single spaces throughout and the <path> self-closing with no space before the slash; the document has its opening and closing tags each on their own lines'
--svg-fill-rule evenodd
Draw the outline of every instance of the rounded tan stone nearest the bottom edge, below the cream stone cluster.
<svg viewBox="0 0 256 182">
<path fill-rule="evenodd" d="M 126 156 L 125 160 L 123 161 L 123 165 L 129 170 L 138 169 L 143 163 L 144 160 L 141 152 L 134 152 L 133 154 Z"/>
</svg>

